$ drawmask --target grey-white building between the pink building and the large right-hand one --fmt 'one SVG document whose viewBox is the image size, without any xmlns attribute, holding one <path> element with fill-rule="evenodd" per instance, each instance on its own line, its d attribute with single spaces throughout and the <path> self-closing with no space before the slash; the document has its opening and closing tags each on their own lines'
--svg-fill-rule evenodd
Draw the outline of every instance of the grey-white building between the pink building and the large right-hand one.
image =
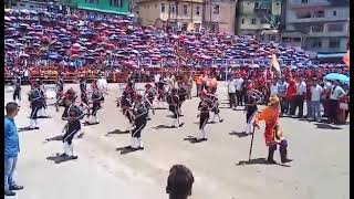
<svg viewBox="0 0 354 199">
<path fill-rule="evenodd" d="M 278 41 L 280 15 L 281 0 L 239 0 L 237 34 L 252 34 L 259 39 Z"/>
</svg>

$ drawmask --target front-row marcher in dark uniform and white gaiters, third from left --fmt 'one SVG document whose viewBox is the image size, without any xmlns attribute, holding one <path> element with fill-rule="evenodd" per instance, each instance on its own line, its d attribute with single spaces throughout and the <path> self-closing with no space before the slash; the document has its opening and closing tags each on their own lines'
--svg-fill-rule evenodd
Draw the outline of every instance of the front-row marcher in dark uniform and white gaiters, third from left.
<svg viewBox="0 0 354 199">
<path fill-rule="evenodd" d="M 208 140 L 207 134 L 205 132 L 205 126 L 207 125 L 207 122 L 209 119 L 209 112 L 212 106 L 212 102 L 210 98 L 207 97 L 207 94 L 205 92 L 199 93 L 200 102 L 198 105 L 198 111 L 200 111 L 199 115 L 199 132 L 197 133 L 197 142 L 204 142 Z"/>
</svg>

